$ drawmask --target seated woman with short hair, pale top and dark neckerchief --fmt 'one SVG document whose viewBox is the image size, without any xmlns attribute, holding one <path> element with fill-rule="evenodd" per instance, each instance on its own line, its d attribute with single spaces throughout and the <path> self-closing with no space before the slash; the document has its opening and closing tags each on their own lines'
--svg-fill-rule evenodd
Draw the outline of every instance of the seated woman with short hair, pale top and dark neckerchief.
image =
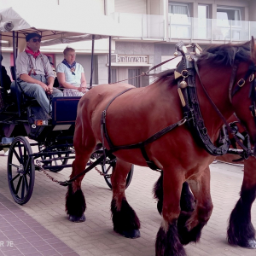
<svg viewBox="0 0 256 256">
<path fill-rule="evenodd" d="M 75 61 L 73 48 L 67 47 L 63 51 L 64 60 L 57 67 L 57 78 L 65 89 L 64 96 L 83 96 L 86 91 L 84 68 Z"/>
</svg>

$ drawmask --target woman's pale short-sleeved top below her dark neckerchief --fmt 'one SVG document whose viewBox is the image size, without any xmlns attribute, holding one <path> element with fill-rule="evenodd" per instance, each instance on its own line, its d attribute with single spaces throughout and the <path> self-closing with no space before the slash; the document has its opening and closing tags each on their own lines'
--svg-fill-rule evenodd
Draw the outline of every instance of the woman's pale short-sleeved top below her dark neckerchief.
<svg viewBox="0 0 256 256">
<path fill-rule="evenodd" d="M 68 84 L 73 84 L 74 86 L 79 87 L 81 84 L 81 74 L 84 73 L 84 67 L 81 64 L 76 63 L 74 75 L 72 74 L 69 67 L 65 64 L 60 63 L 57 67 L 57 73 L 65 74 L 65 81 Z"/>
</svg>

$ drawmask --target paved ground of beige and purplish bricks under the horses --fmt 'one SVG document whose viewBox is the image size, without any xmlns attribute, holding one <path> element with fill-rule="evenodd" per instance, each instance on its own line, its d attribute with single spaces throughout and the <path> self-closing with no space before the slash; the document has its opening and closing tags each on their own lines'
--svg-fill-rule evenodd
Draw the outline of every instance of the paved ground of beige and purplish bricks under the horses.
<svg viewBox="0 0 256 256">
<path fill-rule="evenodd" d="M 142 223 L 141 237 L 131 240 L 113 232 L 110 215 L 112 193 L 96 171 L 86 174 L 83 181 L 86 221 L 74 224 L 67 220 L 65 213 L 67 188 L 53 183 L 43 172 L 36 173 L 31 200 L 21 207 L 15 204 L 9 192 L 6 161 L 7 157 L 0 156 L 0 256 L 154 256 L 154 240 L 161 222 L 152 196 L 153 184 L 160 175 L 158 172 L 136 166 L 131 185 L 126 190 L 127 200 Z M 217 163 L 211 165 L 211 172 L 212 218 L 202 232 L 201 241 L 185 247 L 188 256 L 254 256 L 255 250 L 231 247 L 226 241 L 227 219 L 239 198 L 243 176 L 241 166 Z M 65 180 L 70 173 L 69 168 L 51 175 Z M 256 226 L 255 206 L 252 212 Z M 38 237 L 38 242 L 31 238 L 33 236 Z M 8 246 L 8 242 L 13 246 Z M 36 251 L 29 252 L 28 248 Z"/>
</svg>

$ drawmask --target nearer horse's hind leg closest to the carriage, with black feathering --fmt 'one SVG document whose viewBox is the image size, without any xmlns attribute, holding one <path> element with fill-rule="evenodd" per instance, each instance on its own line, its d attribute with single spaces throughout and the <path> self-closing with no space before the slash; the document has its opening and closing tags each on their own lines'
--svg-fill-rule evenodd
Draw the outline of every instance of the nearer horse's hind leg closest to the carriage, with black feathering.
<svg viewBox="0 0 256 256">
<path fill-rule="evenodd" d="M 82 122 L 80 120 L 80 122 Z M 85 166 L 90 159 L 90 154 L 96 146 L 96 139 L 90 127 L 86 127 L 86 132 L 80 123 L 76 126 L 73 142 L 76 150 L 75 160 L 73 161 L 73 169 L 70 178 L 75 177 L 80 172 L 83 172 Z M 83 139 L 82 139 L 83 138 Z M 81 189 L 81 183 L 84 175 L 76 178 L 73 183 L 68 184 L 66 195 L 66 212 L 69 215 L 69 220 L 73 222 L 85 221 L 85 208 L 86 203 L 84 193 Z"/>
</svg>

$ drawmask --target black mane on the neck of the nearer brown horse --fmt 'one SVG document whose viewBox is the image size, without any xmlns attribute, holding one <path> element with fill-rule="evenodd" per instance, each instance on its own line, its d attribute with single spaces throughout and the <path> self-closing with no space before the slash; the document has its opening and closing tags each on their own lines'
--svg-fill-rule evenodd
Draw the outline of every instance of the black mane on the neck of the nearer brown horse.
<svg viewBox="0 0 256 256">
<path fill-rule="evenodd" d="M 198 57 L 197 63 L 211 62 L 211 65 L 232 66 L 236 55 L 237 61 L 250 61 L 250 42 L 245 44 L 215 44 L 207 47 Z M 161 73 L 154 74 L 154 82 L 168 82 L 175 84 L 174 70 L 169 69 Z"/>
</svg>

